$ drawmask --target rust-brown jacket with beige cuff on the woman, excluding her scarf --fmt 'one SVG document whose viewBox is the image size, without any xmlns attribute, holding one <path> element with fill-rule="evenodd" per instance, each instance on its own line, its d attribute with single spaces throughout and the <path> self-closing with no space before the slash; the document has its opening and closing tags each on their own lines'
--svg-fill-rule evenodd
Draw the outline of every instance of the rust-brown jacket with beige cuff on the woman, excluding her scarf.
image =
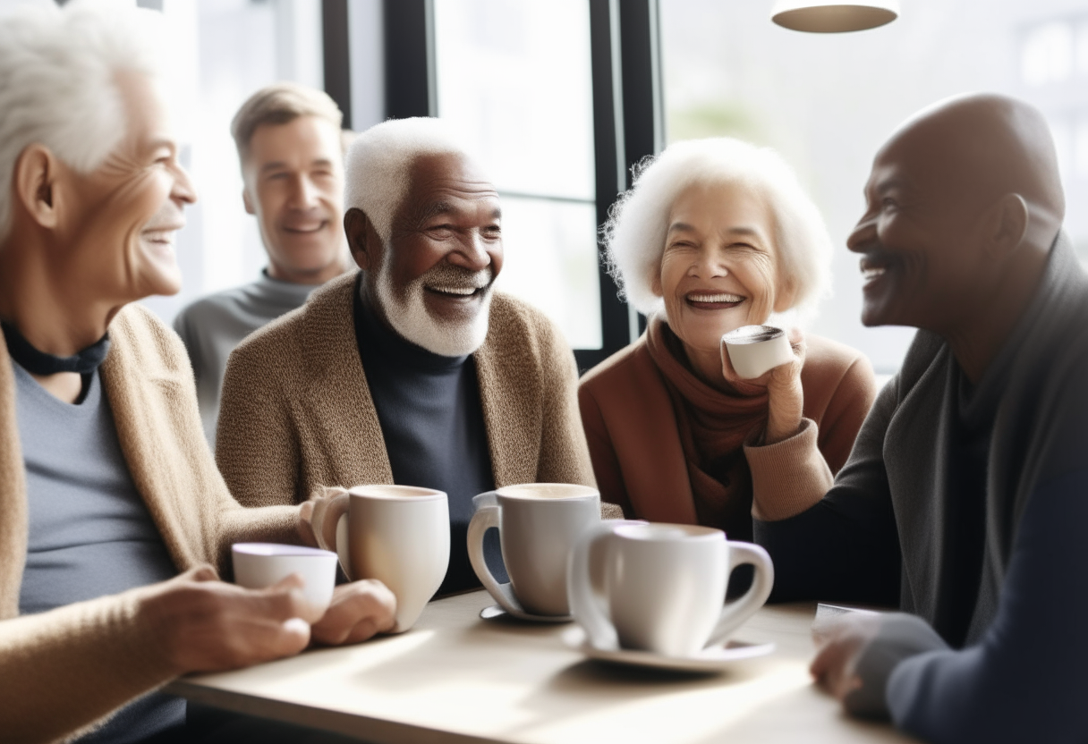
<svg viewBox="0 0 1088 744">
<path fill-rule="evenodd" d="M 801 431 L 774 445 L 745 446 L 744 456 L 753 491 L 772 487 L 811 504 L 808 492 L 823 495 L 846 461 L 876 385 L 864 355 L 819 336 L 806 342 Z M 590 370 L 578 397 L 602 499 L 620 505 L 628 517 L 696 523 L 691 463 L 646 336 Z"/>
</svg>

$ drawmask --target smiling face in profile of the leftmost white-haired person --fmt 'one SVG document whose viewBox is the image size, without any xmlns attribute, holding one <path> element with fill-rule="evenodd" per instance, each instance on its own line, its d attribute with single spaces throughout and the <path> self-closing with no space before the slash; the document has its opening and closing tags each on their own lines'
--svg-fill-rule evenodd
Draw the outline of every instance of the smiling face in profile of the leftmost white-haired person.
<svg viewBox="0 0 1088 744">
<path fill-rule="evenodd" d="M 119 73 L 118 84 L 126 136 L 89 174 L 62 166 L 55 195 L 67 207 L 57 235 L 65 271 L 92 301 L 109 303 L 181 289 L 174 236 L 196 200 L 160 91 L 139 73 Z"/>
</svg>

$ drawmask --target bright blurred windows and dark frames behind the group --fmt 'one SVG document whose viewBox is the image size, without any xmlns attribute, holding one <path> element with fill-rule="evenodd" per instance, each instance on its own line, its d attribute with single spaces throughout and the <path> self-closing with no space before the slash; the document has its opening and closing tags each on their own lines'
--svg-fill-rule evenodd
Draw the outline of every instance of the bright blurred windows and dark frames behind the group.
<svg viewBox="0 0 1088 744">
<path fill-rule="evenodd" d="M 0 10 L 24 0 L 0 0 Z M 39 0 L 48 2 L 50 0 Z M 139 0 L 164 13 L 200 201 L 178 238 L 185 288 L 165 320 L 264 265 L 242 204 L 231 117 L 277 79 L 324 88 L 361 131 L 438 115 L 504 197 L 499 284 L 560 324 L 585 368 L 638 335 L 597 230 L 629 166 L 671 141 L 729 135 L 778 149 L 824 212 L 832 295 L 808 328 L 898 368 L 913 331 L 865 328 L 844 247 L 873 154 L 918 109 L 974 90 L 1040 107 L 1058 142 L 1067 230 L 1088 258 L 1088 0 L 902 0 L 874 30 L 811 35 L 770 0 Z"/>
</svg>

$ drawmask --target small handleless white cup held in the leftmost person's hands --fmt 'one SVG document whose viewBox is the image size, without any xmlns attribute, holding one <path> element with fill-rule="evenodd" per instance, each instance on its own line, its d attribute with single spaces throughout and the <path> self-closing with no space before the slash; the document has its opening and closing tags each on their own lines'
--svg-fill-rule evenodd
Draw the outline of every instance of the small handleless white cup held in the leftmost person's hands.
<svg viewBox="0 0 1088 744">
<path fill-rule="evenodd" d="M 324 609 L 336 585 L 336 554 L 301 545 L 235 543 L 231 546 L 234 583 L 246 588 L 267 588 L 292 573 L 302 580 L 302 594 Z"/>
</svg>

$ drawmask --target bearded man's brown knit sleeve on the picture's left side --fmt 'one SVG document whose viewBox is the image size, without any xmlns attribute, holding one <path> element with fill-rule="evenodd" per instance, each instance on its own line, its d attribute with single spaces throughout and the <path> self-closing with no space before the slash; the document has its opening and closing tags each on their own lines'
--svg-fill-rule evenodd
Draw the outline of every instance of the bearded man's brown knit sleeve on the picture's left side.
<svg viewBox="0 0 1088 744">
<path fill-rule="evenodd" d="M 246 507 L 293 505 L 299 487 L 299 444 L 280 375 L 257 347 L 231 352 L 215 432 L 215 462 L 227 488 Z"/>
</svg>

